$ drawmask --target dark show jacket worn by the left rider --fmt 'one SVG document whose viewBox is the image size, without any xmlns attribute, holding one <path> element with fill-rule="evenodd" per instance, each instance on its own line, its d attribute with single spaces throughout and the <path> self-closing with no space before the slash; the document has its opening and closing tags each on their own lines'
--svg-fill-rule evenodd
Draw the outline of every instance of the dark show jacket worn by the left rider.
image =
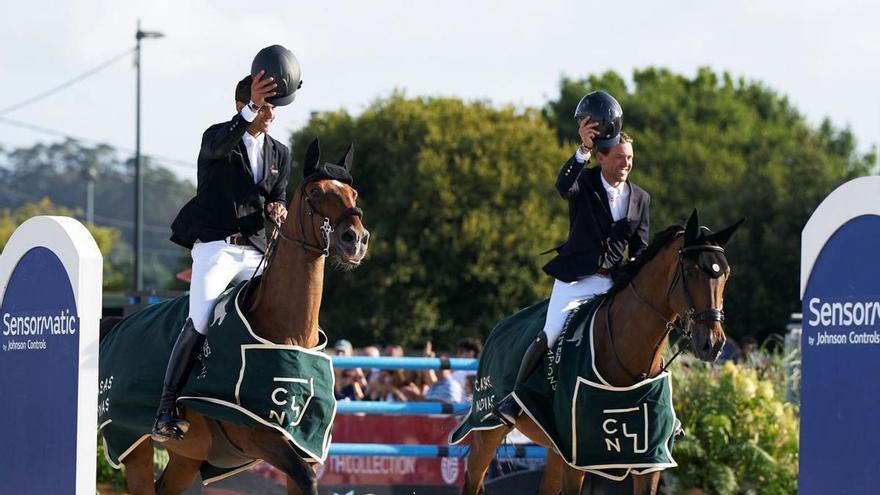
<svg viewBox="0 0 880 495">
<path fill-rule="evenodd" d="M 251 123 L 235 115 L 214 124 L 202 135 L 196 196 L 186 203 L 171 224 L 171 240 L 192 248 L 202 242 L 241 234 L 264 251 L 264 211 L 267 203 L 286 204 L 290 151 L 268 134 L 263 142 L 263 178 L 254 184 L 242 136 Z"/>
</svg>

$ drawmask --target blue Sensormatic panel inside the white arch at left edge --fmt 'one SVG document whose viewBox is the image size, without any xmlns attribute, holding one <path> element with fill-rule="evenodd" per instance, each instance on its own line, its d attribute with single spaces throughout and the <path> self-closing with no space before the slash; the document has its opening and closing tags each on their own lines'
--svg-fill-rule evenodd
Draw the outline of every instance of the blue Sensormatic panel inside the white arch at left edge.
<svg viewBox="0 0 880 495">
<path fill-rule="evenodd" d="M 0 317 L 0 493 L 75 493 L 79 317 L 55 253 L 21 257 Z"/>
</svg>

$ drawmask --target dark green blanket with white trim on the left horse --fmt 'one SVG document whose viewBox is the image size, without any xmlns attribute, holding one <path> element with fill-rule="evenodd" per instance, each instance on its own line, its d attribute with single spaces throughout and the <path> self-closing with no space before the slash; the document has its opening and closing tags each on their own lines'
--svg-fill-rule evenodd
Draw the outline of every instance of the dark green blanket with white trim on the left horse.
<svg viewBox="0 0 880 495">
<path fill-rule="evenodd" d="M 179 399 L 209 418 L 278 431 L 307 460 L 324 462 L 336 415 L 333 368 L 318 347 L 278 345 L 251 329 L 239 307 L 246 283 L 214 306 L 208 338 Z M 121 321 L 101 341 L 98 421 L 108 460 L 119 466 L 149 438 L 165 366 L 187 318 L 187 295 L 149 306 Z M 218 479 L 249 465 L 206 465 L 202 479 Z"/>
</svg>

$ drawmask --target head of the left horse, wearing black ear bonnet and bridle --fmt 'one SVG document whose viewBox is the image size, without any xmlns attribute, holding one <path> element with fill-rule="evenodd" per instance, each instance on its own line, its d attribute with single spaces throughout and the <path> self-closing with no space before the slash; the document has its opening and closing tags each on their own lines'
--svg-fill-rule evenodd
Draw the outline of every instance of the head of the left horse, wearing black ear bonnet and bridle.
<svg viewBox="0 0 880 495">
<path fill-rule="evenodd" d="M 303 181 L 291 199 L 298 218 L 289 219 L 293 221 L 285 223 L 281 235 L 307 251 L 332 256 L 341 266 L 354 268 L 367 254 L 370 241 L 349 174 L 354 148 L 349 146 L 337 163 L 319 164 L 320 155 L 315 139 L 303 161 Z"/>
</svg>

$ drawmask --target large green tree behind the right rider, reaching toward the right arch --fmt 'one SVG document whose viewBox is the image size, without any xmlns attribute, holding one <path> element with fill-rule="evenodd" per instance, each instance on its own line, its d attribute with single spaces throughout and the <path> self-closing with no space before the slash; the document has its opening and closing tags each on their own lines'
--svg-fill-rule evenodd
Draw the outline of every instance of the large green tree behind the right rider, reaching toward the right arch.
<svg viewBox="0 0 880 495">
<path fill-rule="evenodd" d="M 871 171 L 848 129 L 812 127 L 787 98 L 764 85 L 701 69 L 693 78 L 665 69 L 563 79 L 543 115 L 574 149 L 572 117 L 587 92 L 604 89 L 624 109 L 635 139 L 633 180 L 652 196 L 652 231 L 693 209 L 714 228 L 747 217 L 729 249 L 728 332 L 759 337 L 785 328 L 800 310 L 800 232 L 822 199 Z"/>
</svg>

